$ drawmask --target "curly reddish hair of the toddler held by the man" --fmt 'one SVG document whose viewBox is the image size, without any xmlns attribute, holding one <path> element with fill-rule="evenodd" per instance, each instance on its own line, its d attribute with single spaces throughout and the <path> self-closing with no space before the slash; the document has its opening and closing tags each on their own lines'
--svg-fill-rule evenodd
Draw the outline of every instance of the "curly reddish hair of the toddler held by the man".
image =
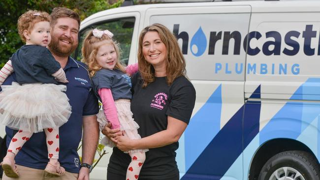
<svg viewBox="0 0 320 180">
<path fill-rule="evenodd" d="M 23 34 L 24 30 L 32 31 L 33 26 L 41 21 L 50 22 L 50 15 L 46 12 L 29 10 L 23 13 L 18 19 L 18 32 L 23 42 L 26 42 L 26 37 Z"/>
</svg>

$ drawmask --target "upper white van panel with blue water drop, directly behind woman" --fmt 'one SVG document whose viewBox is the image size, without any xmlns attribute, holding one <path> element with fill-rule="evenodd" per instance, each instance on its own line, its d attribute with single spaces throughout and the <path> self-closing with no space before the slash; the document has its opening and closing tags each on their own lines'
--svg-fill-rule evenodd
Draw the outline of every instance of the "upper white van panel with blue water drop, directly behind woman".
<svg viewBox="0 0 320 180">
<path fill-rule="evenodd" d="M 150 8 L 146 16 L 145 26 L 160 23 L 176 35 L 190 79 L 244 81 L 250 6 Z"/>
</svg>

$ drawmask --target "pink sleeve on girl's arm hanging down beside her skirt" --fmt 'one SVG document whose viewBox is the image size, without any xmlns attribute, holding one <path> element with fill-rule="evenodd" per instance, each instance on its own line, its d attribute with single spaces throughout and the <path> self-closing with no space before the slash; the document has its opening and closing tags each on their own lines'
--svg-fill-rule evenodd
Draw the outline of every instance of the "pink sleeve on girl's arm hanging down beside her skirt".
<svg viewBox="0 0 320 180">
<path fill-rule="evenodd" d="M 114 104 L 111 90 L 108 88 L 101 88 L 98 90 L 98 94 L 102 100 L 102 109 L 105 117 L 107 117 L 107 120 L 111 123 L 111 129 L 120 129 L 117 108 Z"/>
</svg>

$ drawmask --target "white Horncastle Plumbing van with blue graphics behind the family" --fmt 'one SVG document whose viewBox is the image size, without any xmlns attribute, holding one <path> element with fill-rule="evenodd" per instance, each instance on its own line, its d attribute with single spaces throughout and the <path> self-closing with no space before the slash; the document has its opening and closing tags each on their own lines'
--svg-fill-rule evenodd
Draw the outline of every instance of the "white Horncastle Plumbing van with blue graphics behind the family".
<svg viewBox="0 0 320 180">
<path fill-rule="evenodd" d="M 196 90 L 177 150 L 181 180 L 320 179 L 319 0 L 120 7 L 85 19 L 80 44 L 108 29 L 132 64 L 154 23 L 176 35 Z M 93 179 L 106 179 L 107 161 Z"/>
</svg>

